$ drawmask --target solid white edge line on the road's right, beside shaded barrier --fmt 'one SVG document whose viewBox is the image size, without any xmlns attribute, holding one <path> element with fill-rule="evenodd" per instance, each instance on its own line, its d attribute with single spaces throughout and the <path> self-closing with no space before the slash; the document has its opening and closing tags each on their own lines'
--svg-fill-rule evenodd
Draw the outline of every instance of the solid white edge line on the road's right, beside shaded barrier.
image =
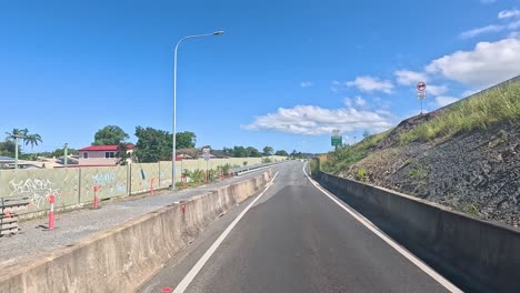
<svg viewBox="0 0 520 293">
<path fill-rule="evenodd" d="M 430 275 L 433 280 L 439 282 L 442 286 L 444 286 L 447 290 L 450 292 L 463 292 L 456 285 L 453 285 L 450 281 L 448 281 L 446 277 L 440 275 L 438 272 L 436 272 L 433 269 L 431 269 L 428 264 L 419 260 L 416 255 L 413 255 L 411 252 L 409 252 L 407 249 L 402 247 L 399 245 L 393 239 L 388 236 L 384 232 L 379 230 L 372 222 L 370 222 L 367 218 L 362 216 L 358 212 L 354 212 L 353 209 L 348 205 L 347 203 L 340 203 L 334 196 L 330 195 L 326 190 L 323 190 L 318 183 L 314 182 L 306 172 L 306 164 L 303 165 L 303 173 L 309 179 L 309 181 L 317 188 L 319 191 L 321 191 L 323 194 L 329 196 L 329 199 L 333 202 L 336 202 L 341 209 L 347 211 L 350 215 L 352 215 L 356 220 L 358 220 L 361 224 L 363 224 L 366 228 L 368 228 L 370 231 L 372 231 L 376 235 L 378 235 L 381 240 L 387 242 L 392 249 L 398 251 L 402 256 L 408 259 L 411 263 L 417 265 L 419 269 L 421 269 L 424 273 Z"/>
</svg>

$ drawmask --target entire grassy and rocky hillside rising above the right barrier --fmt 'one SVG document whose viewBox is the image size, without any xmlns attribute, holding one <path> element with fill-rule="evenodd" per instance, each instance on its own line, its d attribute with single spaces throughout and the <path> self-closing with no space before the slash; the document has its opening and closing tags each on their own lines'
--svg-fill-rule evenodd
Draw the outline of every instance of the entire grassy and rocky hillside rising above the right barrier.
<svg viewBox="0 0 520 293">
<path fill-rule="evenodd" d="M 330 152 L 324 172 L 520 224 L 520 77 Z"/>
</svg>

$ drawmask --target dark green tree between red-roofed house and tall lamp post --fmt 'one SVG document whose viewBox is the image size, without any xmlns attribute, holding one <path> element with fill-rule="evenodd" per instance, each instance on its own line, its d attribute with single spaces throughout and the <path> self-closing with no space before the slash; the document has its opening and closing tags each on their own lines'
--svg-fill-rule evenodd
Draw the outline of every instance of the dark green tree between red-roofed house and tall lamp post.
<svg viewBox="0 0 520 293">
<path fill-rule="evenodd" d="M 150 163 L 171 160 L 173 142 L 170 132 L 137 127 L 136 137 L 138 142 L 136 143 L 134 154 L 139 162 Z"/>
</svg>

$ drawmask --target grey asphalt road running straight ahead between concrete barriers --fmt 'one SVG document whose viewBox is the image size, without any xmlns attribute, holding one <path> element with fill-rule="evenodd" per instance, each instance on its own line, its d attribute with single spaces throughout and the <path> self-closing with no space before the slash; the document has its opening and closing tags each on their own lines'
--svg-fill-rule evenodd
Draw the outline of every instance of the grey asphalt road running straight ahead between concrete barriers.
<svg viewBox="0 0 520 293">
<path fill-rule="evenodd" d="M 141 291 L 450 292 L 449 282 L 433 279 L 419 267 L 424 264 L 410 261 L 316 188 L 302 166 L 294 162 L 276 168 L 278 176 L 260 198 L 220 218 Z M 193 272 L 197 266 L 200 271 Z"/>
</svg>

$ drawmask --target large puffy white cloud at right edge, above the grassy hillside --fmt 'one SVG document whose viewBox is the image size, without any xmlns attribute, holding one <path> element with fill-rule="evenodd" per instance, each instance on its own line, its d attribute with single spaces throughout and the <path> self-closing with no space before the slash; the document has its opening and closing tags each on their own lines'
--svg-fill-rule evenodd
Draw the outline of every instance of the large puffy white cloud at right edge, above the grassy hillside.
<svg viewBox="0 0 520 293">
<path fill-rule="evenodd" d="M 457 51 L 426 67 L 450 80 L 486 88 L 520 74 L 520 40 L 479 42 L 472 51 Z"/>
</svg>

